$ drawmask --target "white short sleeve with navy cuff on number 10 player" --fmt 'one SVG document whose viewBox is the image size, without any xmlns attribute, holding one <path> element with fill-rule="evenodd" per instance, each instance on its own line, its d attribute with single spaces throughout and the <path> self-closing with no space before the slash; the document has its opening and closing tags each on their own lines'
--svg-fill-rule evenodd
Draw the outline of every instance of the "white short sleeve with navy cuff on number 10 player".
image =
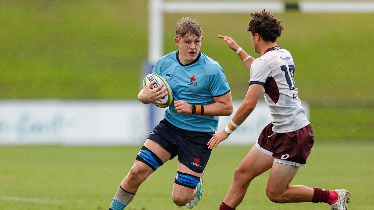
<svg viewBox="0 0 374 210">
<path fill-rule="evenodd" d="M 251 74 L 249 75 L 249 85 L 262 84 L 264 85 L 266 79 L 270 77 L 271 68 L 266 61 L 255 59 L 251 65 Z"/>
</svg>

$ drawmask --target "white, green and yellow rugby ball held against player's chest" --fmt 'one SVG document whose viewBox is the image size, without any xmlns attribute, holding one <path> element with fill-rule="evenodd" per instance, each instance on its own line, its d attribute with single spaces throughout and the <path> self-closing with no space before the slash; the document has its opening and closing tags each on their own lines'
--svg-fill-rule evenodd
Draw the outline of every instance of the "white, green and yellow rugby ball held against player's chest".
<svg viewBox="0 0 374 210">
<path fill-rule="evenodd" d="M 166 108 L 166 107 L 170 106 L 171 103 L 173 102 L 173 92 L 171 91 L 171 88 L 170 88 L 169 84 L 166 82 L 166 80 L 164 78 L 162 78 L 158 74 L 148 74 L 147 76 L 144 77 L 143 87 L 144 88 L 147 87 L 148 84 L 151 83 L 152 81 L 155 81 L 155 83 L 151 87 L 152 90 L 157 88 L 158 86 L 160 86 L 162 84 L 165 84 L 165 86 L 162 87 L 162 89 L 166 89 L 163 93 L 165 93 L 165 92 L 169 93 L 165 97 L 158 99 L 159 102 L 165 102 L 165 104 L 156 104 L 156 103 L 152 103 L 152 104 L 157 106 L 157 107 L 160 107 L 160 108 Z M 161 93 L 161 94 L 163 94 L 163 93 Z"/>
</svg>

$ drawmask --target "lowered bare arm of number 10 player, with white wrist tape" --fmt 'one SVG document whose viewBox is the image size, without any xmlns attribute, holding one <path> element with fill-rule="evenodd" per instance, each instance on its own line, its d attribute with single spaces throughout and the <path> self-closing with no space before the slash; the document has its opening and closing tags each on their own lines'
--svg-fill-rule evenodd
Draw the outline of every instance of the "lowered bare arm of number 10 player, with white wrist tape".
<svg viewBox="0 0 374 210">
<path fill-rule="evenodd" d="M 219 132 L 213 135 L 211 140 L 209 140 L 209 149 L 216 148 L 220 142 L 227 139 L 230 133 L 232 133 L 240 124 L 242 124 L 244 120 L 249 116 L 249 114 L 252 113 L 252 111 L 255 109 L 257 105 L 258 97 L 260 97 L 262 88 L 262 84 L 251 84 L 249 86 L 244 101 L 242 102 L 242 104 L 240 104 L 234 117 L 227 125 L 226 129 L 220 130 Z"/>
</svg>

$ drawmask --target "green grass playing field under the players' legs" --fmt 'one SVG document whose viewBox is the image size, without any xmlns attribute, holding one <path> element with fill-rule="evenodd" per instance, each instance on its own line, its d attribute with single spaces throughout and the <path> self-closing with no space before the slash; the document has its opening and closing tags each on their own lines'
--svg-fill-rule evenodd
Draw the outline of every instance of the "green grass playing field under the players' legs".
<svg viewBox="0 0 374 210">
<path fill-rule="evenodd" d="M 139 148 L 2 146 L 0 209 L 108 209 Z M 196 210 L 218 209 L 231 185 L 234 169 L 249 148 L 218 147 L 213 151 L 205 170 L 204 194 Z M 371 210 L 374 208 L 373 149 L 371 140 L 323 143 L 316 139 L 307 167 L 300 169 L 291 184 L 346 188 L 352 193 L 350 210 Z M 176 160 L 157 169 L 141 185 L 127 209 L 184 209 L 175 206 L 171 200 L 176 170 Z M 329 209 L 327 204 L 270 202 L 265 195 L 268 175 L 266 172 L 251 183 L 238 209 Z M 51 203 L 11 201 L 4 197 L 43 199 Z"/>
</svg>

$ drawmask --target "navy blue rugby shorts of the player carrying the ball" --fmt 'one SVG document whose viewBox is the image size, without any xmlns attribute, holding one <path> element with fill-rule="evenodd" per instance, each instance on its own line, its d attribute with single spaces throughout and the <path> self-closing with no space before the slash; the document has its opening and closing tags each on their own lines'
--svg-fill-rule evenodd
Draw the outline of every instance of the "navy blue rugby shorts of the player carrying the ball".
<svg viewBox="0 0 374 210">
<path fill-rule="evenodd" d="M 197 173 L 203 173 L 208 163 L 211 149 L 207 143 L 214 132 L 204 133 L 180 129 L 165 118 L 154 127 L 148 139 L 157 142 L 171 154 L 178 155 L 178 161 Z"/>
</svg>

